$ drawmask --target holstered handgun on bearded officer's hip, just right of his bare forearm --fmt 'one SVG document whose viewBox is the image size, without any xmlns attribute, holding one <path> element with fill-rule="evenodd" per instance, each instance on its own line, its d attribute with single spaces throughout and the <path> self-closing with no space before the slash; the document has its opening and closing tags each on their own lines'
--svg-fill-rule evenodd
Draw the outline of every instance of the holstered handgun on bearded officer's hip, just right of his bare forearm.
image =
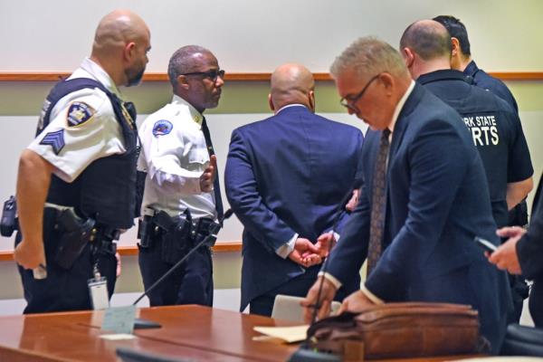
<svg viewBox="0 0 543 362">
<path fill-rule="evenodd" d="M 90 242 L 92 229 L 96 222 L 92 219 L 83 220 L 71 209 L 59 212 L 56 220 L 61 241 L 54 261 L 63 269 L 70 269 L 83 252 L 85 245 Z"/>
</svg>

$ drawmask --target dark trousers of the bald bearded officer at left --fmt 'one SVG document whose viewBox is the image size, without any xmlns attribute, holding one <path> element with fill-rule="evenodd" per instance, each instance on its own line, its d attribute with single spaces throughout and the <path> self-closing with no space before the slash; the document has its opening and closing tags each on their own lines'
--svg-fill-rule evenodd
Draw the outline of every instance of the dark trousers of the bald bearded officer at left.
<svg viewBox="0 0 543 362">
<path fill-rule="evenodd" d="M 60 237 L 56 232 L 44 234 L 45 260 L 47 278 L 33 279 L 33 271 L 18 266 L 23 281 L 24 299 L 27 306 L 24 314 L 69 310 L 91 310 L 88 280 L 93 278 L 94 258 L 90 243 L 81 252 L 79 258 L 65 270 L 54 262 L 57 243 Z M 21 242 L 21 233 L 15 238 L 15 245 Z M 96 255 L 98 268 L 102 276 L 107 278 L 108 292 L 111 298 L 117 279 L 117 259 L 113 252 L 98 252 Z"/>
</svg>

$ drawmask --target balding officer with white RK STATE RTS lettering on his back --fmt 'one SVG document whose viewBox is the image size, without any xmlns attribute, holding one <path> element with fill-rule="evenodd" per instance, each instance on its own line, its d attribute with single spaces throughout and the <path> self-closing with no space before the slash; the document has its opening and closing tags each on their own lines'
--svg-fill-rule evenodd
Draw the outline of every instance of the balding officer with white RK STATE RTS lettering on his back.
<svg viewBox="0 0 543 362">
<path fill-rule="evenodd" d="M 457 110 L 472 133 L 491 192 L 492 214 L 498 227 L 508 224 L 508 208 L 532 188 L 533 167 L 517 113 L 490 91 L 451 70 L 450 35 L 442 24 L 423 20 L 409 25 L 400 49 L 412 77 Z M 514 296 L 520 317 L 522 298 Z"/>
</svg>

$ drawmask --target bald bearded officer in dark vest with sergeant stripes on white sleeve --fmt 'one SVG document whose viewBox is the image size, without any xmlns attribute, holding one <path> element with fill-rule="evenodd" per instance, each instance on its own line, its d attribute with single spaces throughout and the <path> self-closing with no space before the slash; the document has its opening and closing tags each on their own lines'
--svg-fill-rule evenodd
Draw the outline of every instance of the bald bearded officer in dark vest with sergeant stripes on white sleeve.
<svg viewBox="0 0 543 362">
<path fill-rule="evenodd" d="M 117 271 L 113 241 L 132 226 L 136 210 L 136 114 L 117 87 L 138 84 L 149 49 L 148 26 L 137 14 L 106 15 L 90 58 L 43 104 L 17 178 L 14 259 L 25 313 L 108 304 Z"/>
</svg>

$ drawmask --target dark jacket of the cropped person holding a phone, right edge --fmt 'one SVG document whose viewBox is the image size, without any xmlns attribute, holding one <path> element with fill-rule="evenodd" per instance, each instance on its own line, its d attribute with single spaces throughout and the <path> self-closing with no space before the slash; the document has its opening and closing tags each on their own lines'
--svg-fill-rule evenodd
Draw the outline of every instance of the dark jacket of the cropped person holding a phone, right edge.
<svg viewBox="0 0 543 362">
<path fill-rule="evenodd" d="M 543 282 L 543 176 L 534 197 L 528 233 L 517 243 L 522 275 L 529 280 Z"/>
</svg>

